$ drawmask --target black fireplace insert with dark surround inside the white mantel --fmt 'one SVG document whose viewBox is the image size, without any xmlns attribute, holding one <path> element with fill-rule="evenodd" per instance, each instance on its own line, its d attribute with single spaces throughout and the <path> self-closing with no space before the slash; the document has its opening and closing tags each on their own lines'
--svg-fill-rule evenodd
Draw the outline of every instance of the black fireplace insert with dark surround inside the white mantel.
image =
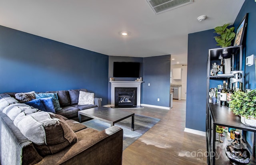
<svg viewBox="0 0 256 165">
<path fill-rule="evenodd" d="M 115 88 L 115 107 L 137 106 L 137 88 Z"/>
</svg>

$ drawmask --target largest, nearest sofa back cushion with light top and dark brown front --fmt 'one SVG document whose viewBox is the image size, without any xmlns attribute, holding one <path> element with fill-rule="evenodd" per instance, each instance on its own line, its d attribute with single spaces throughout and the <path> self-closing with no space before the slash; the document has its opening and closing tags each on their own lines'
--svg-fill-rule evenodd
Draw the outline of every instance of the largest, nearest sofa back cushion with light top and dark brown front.
<svg viewBox="0 0 256 165">
<path fill-rule="evenodd" d="M 43 156 L 56 153 L 77 141 L 76 134 L 65 120 L 51 112 L 19 116 L 15 118 L 14 125 Z"/>
</svg>

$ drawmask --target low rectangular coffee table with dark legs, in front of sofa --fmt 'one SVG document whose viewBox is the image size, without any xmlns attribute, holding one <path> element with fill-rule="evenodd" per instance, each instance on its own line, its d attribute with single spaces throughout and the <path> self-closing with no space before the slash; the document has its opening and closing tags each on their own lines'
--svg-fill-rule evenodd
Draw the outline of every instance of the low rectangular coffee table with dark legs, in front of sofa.
<svg viewBox="0 0 256 165">
<path fill-rule="evenodd" d="M 82 121 L 82 115 L 109 123 L 111 126 L 114 126 L 115 123 L 132 116 L 132 131 L 134 131 L 134 113 L 132 112 L 126 112 L 121 109 L 116 110 L 104 106 L 89 108 L 86 110 L 78 111 L 78 118 L 80 123 Z"/>
</svg>

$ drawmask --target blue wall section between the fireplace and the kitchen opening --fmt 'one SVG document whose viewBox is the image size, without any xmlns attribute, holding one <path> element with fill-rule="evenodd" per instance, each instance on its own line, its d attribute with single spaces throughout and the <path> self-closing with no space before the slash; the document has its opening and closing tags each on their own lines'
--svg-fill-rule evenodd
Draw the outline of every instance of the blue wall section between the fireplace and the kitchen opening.
<svg viewBox="0 0 256 165">
<path fill-rule="evenodd" d="M 170 107 L 170 58 L 170 55 L 143 58 L 143 104 Z"/>
</svg>

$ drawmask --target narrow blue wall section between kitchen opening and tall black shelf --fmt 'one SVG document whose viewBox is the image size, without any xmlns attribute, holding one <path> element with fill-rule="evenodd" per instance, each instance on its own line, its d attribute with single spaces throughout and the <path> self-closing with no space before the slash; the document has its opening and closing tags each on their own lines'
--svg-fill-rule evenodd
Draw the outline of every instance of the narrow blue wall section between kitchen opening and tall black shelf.
<svg viewBox="0 0 256 165">
<path fill-rule="evenodd" d="M 214 29 L 188 34 L 186 128 L 205 132 L 209 49 L 216 48 Z"/>
</svg>

